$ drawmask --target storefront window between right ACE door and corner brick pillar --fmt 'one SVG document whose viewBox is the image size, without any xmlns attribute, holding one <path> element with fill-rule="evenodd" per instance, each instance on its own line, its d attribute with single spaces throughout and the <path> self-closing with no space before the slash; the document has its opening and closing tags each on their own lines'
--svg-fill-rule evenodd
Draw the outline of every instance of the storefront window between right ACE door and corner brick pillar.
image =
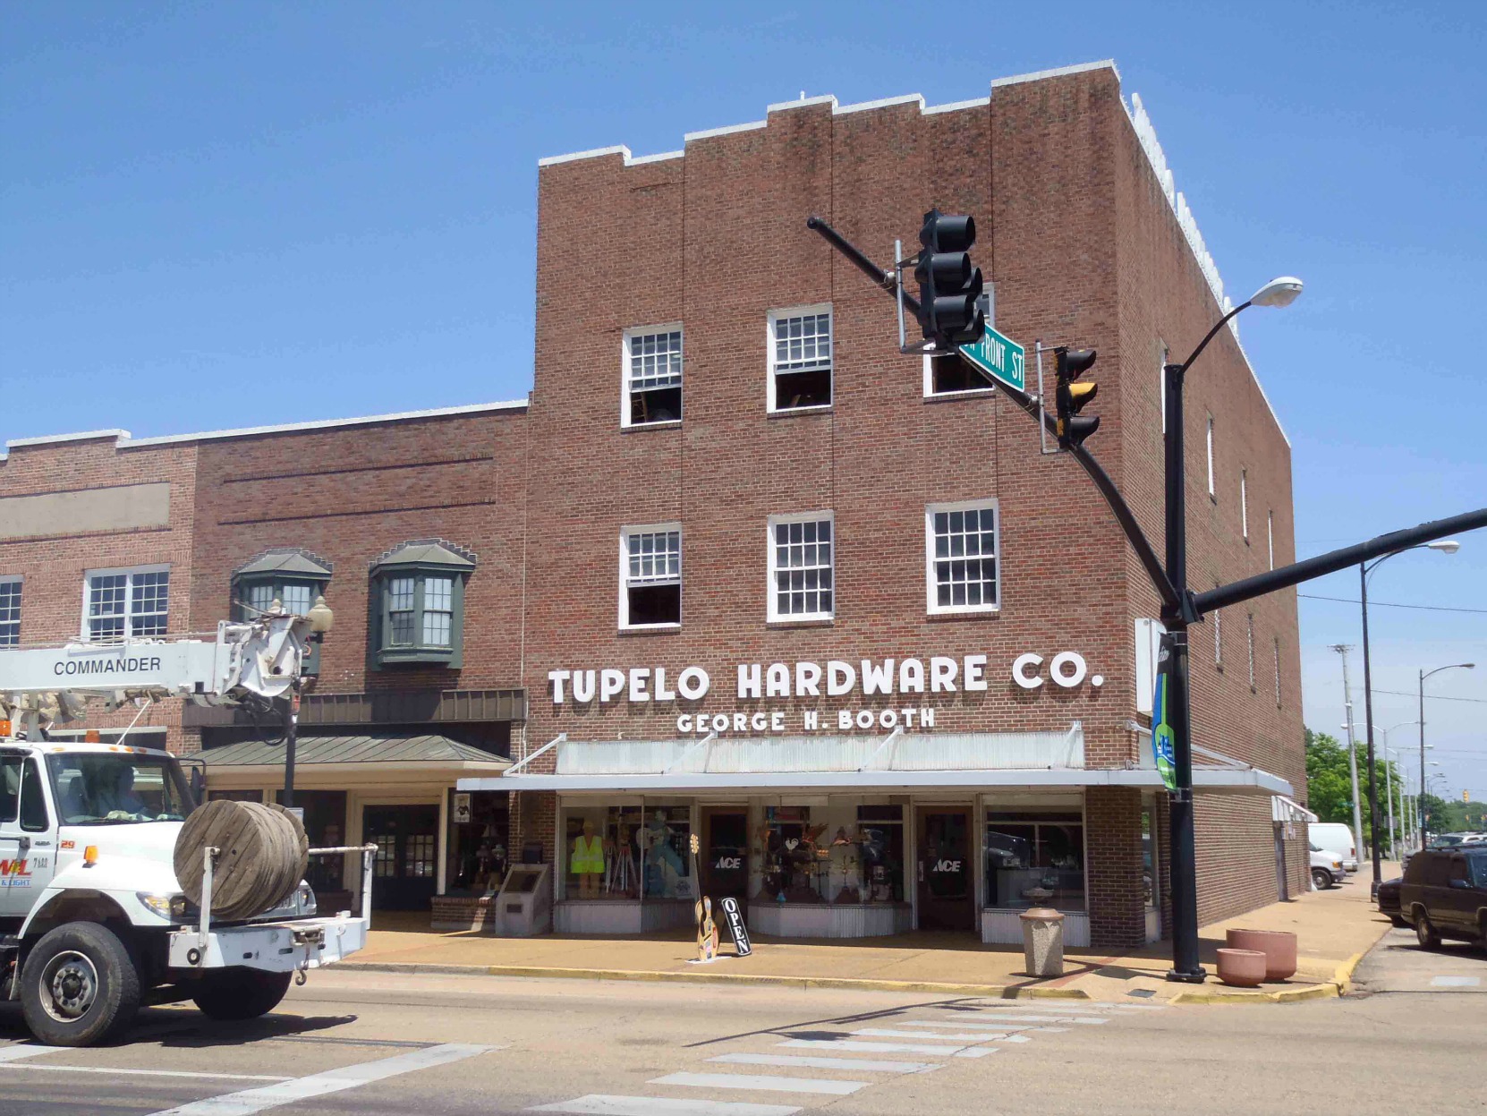
<svg viewBox="0 0 1487 1116">
<path fill-rule="evenodd" d="M 1057 814 L 987 814 L 986 906 L 1084 911 L 1084 823 Z"/>
</svg>

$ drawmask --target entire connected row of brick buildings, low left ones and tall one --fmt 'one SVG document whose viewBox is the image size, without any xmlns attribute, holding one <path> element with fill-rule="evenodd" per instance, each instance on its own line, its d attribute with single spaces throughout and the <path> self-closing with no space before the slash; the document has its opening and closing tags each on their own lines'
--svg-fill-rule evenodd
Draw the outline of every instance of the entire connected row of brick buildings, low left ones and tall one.
<svg viewBox="0 0 1487 1116">
<path fill-rule="evenodd" d="M 538 202 L 528 403 L 12 442 L 0 638 L 7 585 L 18 638 L 76 635 L 80 604 L 89 634 L 100 570 L 168 568 L 167 634 L 324 592 L 297 786 L 317 839 L 384 845 L 394 905 L 476 905 L 509 847 L 553 866 L 571 931 L 683 923 L 703 890 L 784 937 L 1016 940 L 1050 903 L 1071 943 L 1158 936 L 1155 594 L 1078 467 L 900 354 L 892 302 L 804 225 L 886 259 L 931 205 L 972 213 L 998 330 L 1099 350 L 1090 446 L 1160 549 L 1160 368 L 1225 301 L 1114 67 L 776 104 L 546 159 Z M 1187 399 L 1194 585 L 1292 561 L 1289 445 L 1237 335 Z M 1210 921 L 1306 885 L 1294 594 L 1193 641 Z M 283 781 L 241 714 L 150 726 L 204 745 L 213 793 Z"/>
</svg>

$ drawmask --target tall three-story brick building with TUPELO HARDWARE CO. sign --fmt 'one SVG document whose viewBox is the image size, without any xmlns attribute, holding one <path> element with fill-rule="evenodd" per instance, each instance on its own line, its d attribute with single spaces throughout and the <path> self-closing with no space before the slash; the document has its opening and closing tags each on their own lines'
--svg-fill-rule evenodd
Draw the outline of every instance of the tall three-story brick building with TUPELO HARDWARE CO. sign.
<svg viewBox="0 0 1487 1116">
<path fill-rule="evenodd" d="M 1038 903 L 1072 943 L 1158 936 L 1155 594 L 1078 467 L 901 356 L 892 302 L 806 228 L 888 259 L 932 205 L 974 214 L 998 329 L 1099 350 L 1091 446 L 1160 549 L 1160 368 L 1224 298 L 1114 67 L 558 156 L 538 205 L 531 704 L 501 786 L 558 927 L 684 923 L 700 884 L 782 936 L 1019 940 Z M 1236 335 L 1188 415 L 1194 577 L 1291 561 L 1289 446 Z M 1294 597 L 1209 629 L 1204 921 L 1307 878 L 1276 798 L 1304 787 Z"/>
</svg>

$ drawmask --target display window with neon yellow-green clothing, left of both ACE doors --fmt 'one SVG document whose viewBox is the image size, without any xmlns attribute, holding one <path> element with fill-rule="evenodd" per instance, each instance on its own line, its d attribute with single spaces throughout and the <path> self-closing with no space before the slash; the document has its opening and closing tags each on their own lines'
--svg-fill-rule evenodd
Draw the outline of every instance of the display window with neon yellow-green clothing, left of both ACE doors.
<svg viewBox="0 0 1487 1116">
<path fill-rule="evenodd" d="M 696 897 L 688 805 L 570 805 L 562 847 L 565 899 Z"/>
</svg>

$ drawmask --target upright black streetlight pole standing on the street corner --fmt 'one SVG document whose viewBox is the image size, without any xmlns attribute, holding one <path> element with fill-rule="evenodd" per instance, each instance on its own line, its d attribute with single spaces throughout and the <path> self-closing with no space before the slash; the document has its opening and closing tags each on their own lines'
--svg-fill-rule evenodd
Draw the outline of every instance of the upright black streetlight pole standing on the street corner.
<svg viewBox="0 0 1487 1116">
<path fill-rule="evenodd" d="M 1212 333 L 1209 335 L 1212 336 Z M 1207 344 L 1204 338 L 1203 344 Z M 1203 345 L 1199 345 L 1199 351 Z M 1194 353 L 1197 356 L 1197 353 Z M 1167 582 L 1181 594 L 1188 583 L 1187 472 L 1184 469 L 1182 379 L 1187 365 L 1167 365 L 1166 400 L 1166 527 Z M 1167 673 L 1167 723 L 1172 726 L 1172 759 L 1176 789 L 1167 817 L 1172 839 L 1172 970 L 1169 981 L 1203 984 L 1199 963 L 1197 833 L 1193 818 L 1193 707 L 1188 684 L 1188 618 L 1181 604 L 1166 604 L 1161 622 L 1170 637 Z"/>
</svg>

